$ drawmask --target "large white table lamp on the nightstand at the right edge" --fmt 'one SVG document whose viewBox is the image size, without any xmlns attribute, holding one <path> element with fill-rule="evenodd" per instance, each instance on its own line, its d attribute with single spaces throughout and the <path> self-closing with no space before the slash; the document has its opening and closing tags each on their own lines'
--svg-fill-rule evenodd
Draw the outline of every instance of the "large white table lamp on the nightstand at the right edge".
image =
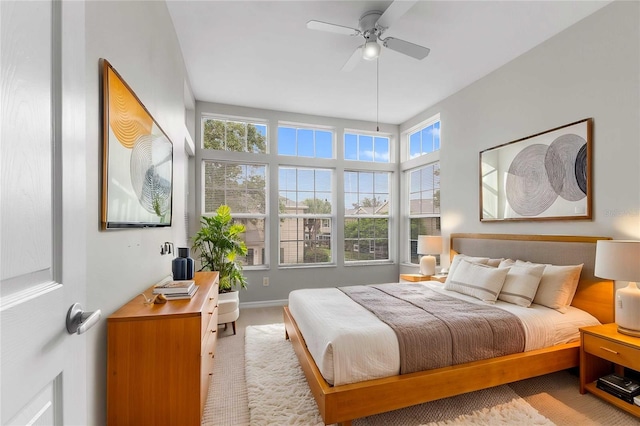
<svg viewBox="0 0 640 426">
<path fill-rule="evenodd" d="M 640 337 L 640 241 L 599 240 L 594 275 L 629 285 L 616 291 L 618 332 Z"/>
</svg>

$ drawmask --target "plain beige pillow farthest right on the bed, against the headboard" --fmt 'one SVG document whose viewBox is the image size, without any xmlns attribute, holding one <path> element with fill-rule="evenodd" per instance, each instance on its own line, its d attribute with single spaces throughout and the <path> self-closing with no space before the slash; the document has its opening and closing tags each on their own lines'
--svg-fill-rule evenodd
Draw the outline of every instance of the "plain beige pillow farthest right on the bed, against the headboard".
<svg viewBox="0 0 640 426">
<path fill-rule="evenodd" d="M 521 260 L 516 261 L 516 265 L 518 264 L 534 265 Z M 565 313 L 576 294 L 582 266 L 582 263 L 562 266 L 546 265 L 533 303 Z"/>
</svg>

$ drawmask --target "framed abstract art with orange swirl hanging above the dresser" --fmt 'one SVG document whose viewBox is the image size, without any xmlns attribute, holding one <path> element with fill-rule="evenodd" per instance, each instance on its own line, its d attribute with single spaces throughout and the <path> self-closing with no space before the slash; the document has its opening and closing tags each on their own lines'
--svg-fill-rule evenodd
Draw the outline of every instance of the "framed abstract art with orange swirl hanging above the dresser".
<svg viewBox="0 0 640 426">
<path fill-rule="evenodd" d="M 171 226 L 173 144 L 102 59 L 102 229 Z"/>
</svg>

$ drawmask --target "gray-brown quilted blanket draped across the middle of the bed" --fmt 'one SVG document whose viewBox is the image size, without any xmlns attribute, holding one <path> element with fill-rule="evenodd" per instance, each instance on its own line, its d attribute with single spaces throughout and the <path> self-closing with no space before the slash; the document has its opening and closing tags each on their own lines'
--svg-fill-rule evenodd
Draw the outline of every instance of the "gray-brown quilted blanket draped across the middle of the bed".
<svg viewBox="0 0 640 426">
<path fill-rule="evenodd" d="M 340 287 L 398 336 L 400 374 L 524 351 L 517 316 L 446 296 L 421 284 Z"/>
</svg>

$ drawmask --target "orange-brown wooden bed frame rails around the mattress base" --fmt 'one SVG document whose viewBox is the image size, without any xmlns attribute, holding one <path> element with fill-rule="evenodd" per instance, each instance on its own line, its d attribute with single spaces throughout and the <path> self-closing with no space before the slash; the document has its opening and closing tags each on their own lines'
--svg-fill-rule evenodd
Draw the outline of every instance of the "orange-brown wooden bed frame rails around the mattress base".
<svg viewBox="0 0 640 426">
<path fill-rule="evenodd" d="M 331 386 L 322 377 L 287 307 L 284 324 L 327 425 L 349 425 L 360 417 L 576 367 L 580 355 L 580 342 L 573 342 L 435 370 Z"/>
</svg>

